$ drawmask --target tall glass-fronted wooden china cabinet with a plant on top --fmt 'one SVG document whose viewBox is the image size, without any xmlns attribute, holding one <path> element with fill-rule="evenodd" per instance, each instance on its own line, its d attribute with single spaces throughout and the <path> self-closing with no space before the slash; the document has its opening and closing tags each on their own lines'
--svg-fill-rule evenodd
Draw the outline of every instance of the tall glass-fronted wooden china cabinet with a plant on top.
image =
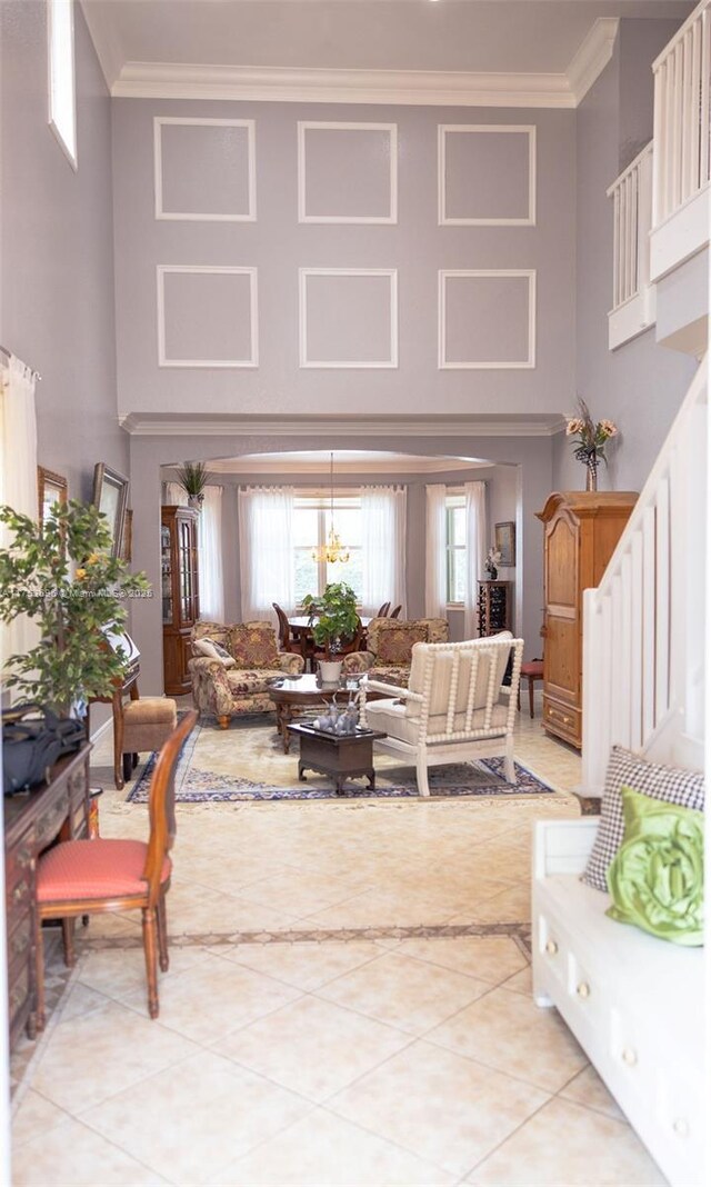
<svg viewBox="0 0 711 1187">
<path fill-rule="evenodd" d="M 198 518 L 190 507 L 160 508 L 163 673 L 172 697 L 190 692 L 190 631 L 199 618 Z"/>
</svg>

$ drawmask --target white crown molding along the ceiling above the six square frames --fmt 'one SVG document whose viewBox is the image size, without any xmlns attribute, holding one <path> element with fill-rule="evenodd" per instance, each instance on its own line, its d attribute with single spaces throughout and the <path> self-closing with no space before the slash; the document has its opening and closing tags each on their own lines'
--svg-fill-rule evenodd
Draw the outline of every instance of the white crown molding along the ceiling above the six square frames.
<svg viewBox="0 0 711 1187">
<path fill-rule="evenodd" d="M 599 24 L 599 23 L 598 23 Z M 564 74 L 431 70 L 323 70 L 126 62 L 115 99 L 207 99 L 279 103 L 387 103 L 425 107 L 574 107 Z"/>
</svg>

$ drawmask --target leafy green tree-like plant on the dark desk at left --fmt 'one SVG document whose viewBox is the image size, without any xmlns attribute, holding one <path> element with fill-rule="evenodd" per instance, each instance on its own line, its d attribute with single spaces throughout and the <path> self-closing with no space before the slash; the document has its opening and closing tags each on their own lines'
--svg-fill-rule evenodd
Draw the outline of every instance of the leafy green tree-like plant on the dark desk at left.
<svg viewBox="0 0 711 1187">
<path fill-rule="evenodd" d="M 27 615 L 39 631 L 26 654 L 7 658 L 6 685 L 61 717 L 110 697 L 127 656 L 103 633 L 121 631 L 128 597 L 151 596 L 145 575 L 112 557 L 106 515 L 76 500 L 55 503 L 42 526 L 4 506 L 0 523 L 12 535 L 0 548 L 0 621 Z"/>
</svg>

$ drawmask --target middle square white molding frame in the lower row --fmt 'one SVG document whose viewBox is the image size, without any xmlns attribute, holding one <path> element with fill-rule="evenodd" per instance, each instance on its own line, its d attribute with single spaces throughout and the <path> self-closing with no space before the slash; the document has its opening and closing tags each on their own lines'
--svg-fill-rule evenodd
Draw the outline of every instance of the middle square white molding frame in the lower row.
<svg viewBox="0 0 711 1187">
<path fill-rule="evenodd" d="M 299 268 L 299 367 L 398 366 L 396 268 Z"/>
</svg>

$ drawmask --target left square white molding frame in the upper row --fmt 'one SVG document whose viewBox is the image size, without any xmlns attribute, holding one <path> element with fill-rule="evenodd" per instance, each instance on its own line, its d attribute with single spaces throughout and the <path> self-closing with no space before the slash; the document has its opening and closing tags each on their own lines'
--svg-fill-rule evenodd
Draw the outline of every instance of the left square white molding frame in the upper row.
<svg viewBox="0 0 711 1187">
<path fill-rule="evenodd" d="M 215 170 L 215 185 L 224 188 L 226 178 L 229 182 L 229 167 L 235 167 L 234 159 L 230 159 L 231 153 L 234 153 L 234 145 L 231 146 L 231 152 L 226 144 L 228 139 L 228 129 L 236 128 L 242 129 L 243 139 L 246 142 L 246 165 L 247 173 L 241 180 L 239 179 L 236 172 L 234 173 L 233 182 L 235 184 L 235 190 L 239 188 L 243 191 L 242 208 L 235 210 L 171 210 L 165 209 L 165 196 L 166 191 L 170 189 L 170 179 L 164 176 L 164 169 L 166 165 L 165 158 L 166 152 L 163 142 L 164 129 L 174 131 L 177 128 L 190 128 L 195 135 L 197 129 L 202 129 L 208 133 L 209 129 L 217 129 L 222 133 L 220 139 L 212 150 L 214 159 L 209 159 L 209 137 L 204 137 L 204 150 L 208 153 L 207 163 L 203 161 L 201 165 L 199 176 L 196 174 L 195 186 L 192 198 L 188 197 L 188 203 L 195 201 L 197 191 L 209 192 L 210 185 L 210 167 Z M 190 179 L 190 152 L 182 153 L 182 172 L 178 174 L 182 183 L 185 185 Z M 188 160 L 188 165 L 185 165 Z M 170 165 L 169 165 L 170 167 Z M 185 172 L 188 171 L 188 172 Z M 179 115 L 155 115 L 153 116 L 153 177 L 154 177 L 154 190 L 155 190 L 155 218 L 158 220 L 171 220 L 177 222 L 256 222 L 256 179 L 255 179 L 255 122 L 254 120 L 218 120 L 218 119 L 198 119 Z M 176 182 L 172 183 L 173 186 Z M 190 191 L 190 185 L 188 185 Z"/>
</svg>

